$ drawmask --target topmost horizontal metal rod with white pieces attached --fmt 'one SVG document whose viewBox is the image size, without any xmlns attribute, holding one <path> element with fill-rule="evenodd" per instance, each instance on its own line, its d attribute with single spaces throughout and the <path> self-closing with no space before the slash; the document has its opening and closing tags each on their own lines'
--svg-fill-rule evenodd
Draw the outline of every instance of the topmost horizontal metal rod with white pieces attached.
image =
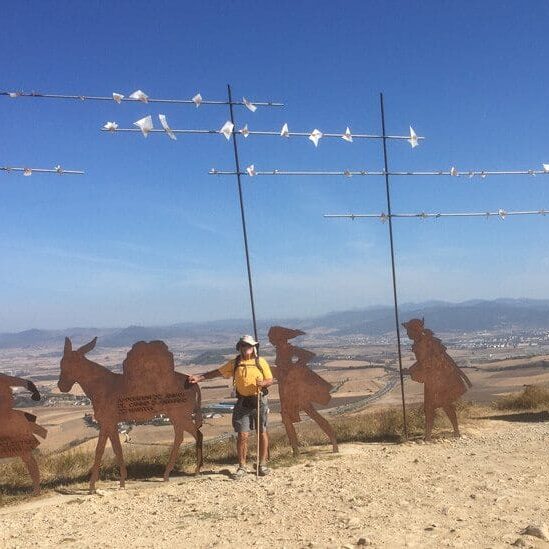
<svg viewBox="0 0 549 549">
<path fill-rule="evenodd" d="M 17 99 L 19 97 L 41 98 L 41 99 L 73 99 L 78 101 L 114 101 L 115 103 L 174 103 L 174 104 L 187 104 L 195 105 L 197 108 L 201 105 L 229 105 L 226 100 L 212 100 L 203 99 L 200 93 L 197 93 L 190 99 L 158 99 L 149 97 L 145 92 L 136 90 L 133 93 L 125 96 L 124 94 L 114 92 L 110 96 L 98 96 L 98 95 L 69 95 L 60 93 L 40 93 L 36 91 L 23 92 L 23 91 L 0 91 L 0 96 L 10 97 Z M 273 101 L 248 101 L 245 97 L 242 101 L 231 102 L 232 105 L 243 105 L 252 112 L 255 112 L 257 107 L 283 107 L 283 103 L 276 103 Z"/>
</svg>

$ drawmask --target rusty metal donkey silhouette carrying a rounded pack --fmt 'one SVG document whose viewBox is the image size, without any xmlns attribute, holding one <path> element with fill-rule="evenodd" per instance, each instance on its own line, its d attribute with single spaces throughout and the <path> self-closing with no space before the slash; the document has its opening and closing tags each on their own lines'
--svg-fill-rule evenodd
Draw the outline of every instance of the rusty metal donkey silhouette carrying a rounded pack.
<svg viewBox="0 0 549 549">
<path fill-rule="evenodd" d="M 147 421 L 159 413 L 170 419 L 175 434 L 164 480 L 169 480 L 174 468 L 184 431 L 196 440 L 198 473 L 202 467 L 200 389 L 196 385 L 188 385 L 188 376 L 174 370 L 173 355 L 166 344 L 162 341 L 136 343 L 124 361 L 124 373 L 116 374 L 86 358 L 86 353 L 95 347 L 96 342 L 97 338 L 73 351 L 71 340 L 65 338 L 58 382 L 59 389 L 64 393 L 78 383 L 90 399 L 95 419 L 99 423 L 90 492 L 95 490 L 99 478 L 99 466 L 107 439 L 111 441 L 120 467 L 120 486 L 125 485 L 127 471 L 118 423 Z"/>
</svg>

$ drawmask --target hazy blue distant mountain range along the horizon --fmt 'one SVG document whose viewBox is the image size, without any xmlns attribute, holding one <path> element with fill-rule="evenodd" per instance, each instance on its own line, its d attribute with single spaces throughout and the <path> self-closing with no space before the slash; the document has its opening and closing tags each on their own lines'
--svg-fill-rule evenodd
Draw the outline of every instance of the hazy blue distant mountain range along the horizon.
<svg viewBox="0 0 549 549">
<path fill-rule="evenodd" d="M 496 299 L 462 303 L 429 301 L 406 303 L 399 307 L 401 322 L 425 317 L 437 333 L 476 332 L 481 330 L 549 330 L 549 300 Z M 394 312 L 390 306 L 367 307 L 353 311 L 328 313 L 314 318 L 290 318 L 262 321 L 260 333 L 269 326 L 283 325 L 305 332 L 320 331 L 331 335 L 383 335 L 394 330 Z M 185 322 L 170 326 L 128 326 L 127 328 L 67 328 L 66 330 L 27 330 L 0 334 L 0 349 L 56 345 L 62 349 L 65 336 L 78 344 L 99 337 L 101 347 L 128 347 L 136 341 L 172 338 L 210 338 L 226 343 L 227 338 L 249 331 L 250 320 L 233 319 L 212 322 Z"/>
</svg>

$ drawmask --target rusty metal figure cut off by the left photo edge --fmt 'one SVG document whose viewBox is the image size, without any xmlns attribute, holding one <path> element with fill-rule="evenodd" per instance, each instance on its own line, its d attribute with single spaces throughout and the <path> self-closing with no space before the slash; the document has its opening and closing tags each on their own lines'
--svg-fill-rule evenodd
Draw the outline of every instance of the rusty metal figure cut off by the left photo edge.
<svg viewBox="0 0 549 549">
<path fill-rule="evenodd" d="M 40 393 L 32 381 L 0 374 L 0 458 L 20 457 L 32 479 L 33 494 L 40 494 L 40 471 L 32 455 L 48 431 L 36 423 L 36 416 L 14 410 L 12 387 L 25 387 L 33 400 L 40 400 Z"/>
</svg>

